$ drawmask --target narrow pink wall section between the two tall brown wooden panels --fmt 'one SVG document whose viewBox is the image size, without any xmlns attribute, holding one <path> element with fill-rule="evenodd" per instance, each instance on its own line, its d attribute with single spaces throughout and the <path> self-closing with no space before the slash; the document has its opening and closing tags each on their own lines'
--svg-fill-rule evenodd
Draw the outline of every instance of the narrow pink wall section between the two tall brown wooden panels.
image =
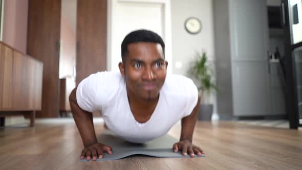
<svg viewBox="0 0 302 170">
<path fill-rule="evenodd" d="M 61 15 L 61 49 L 59 77 L 73 76 L 76 59 L 76 35 L 66 17 Z"/>
</svg>

